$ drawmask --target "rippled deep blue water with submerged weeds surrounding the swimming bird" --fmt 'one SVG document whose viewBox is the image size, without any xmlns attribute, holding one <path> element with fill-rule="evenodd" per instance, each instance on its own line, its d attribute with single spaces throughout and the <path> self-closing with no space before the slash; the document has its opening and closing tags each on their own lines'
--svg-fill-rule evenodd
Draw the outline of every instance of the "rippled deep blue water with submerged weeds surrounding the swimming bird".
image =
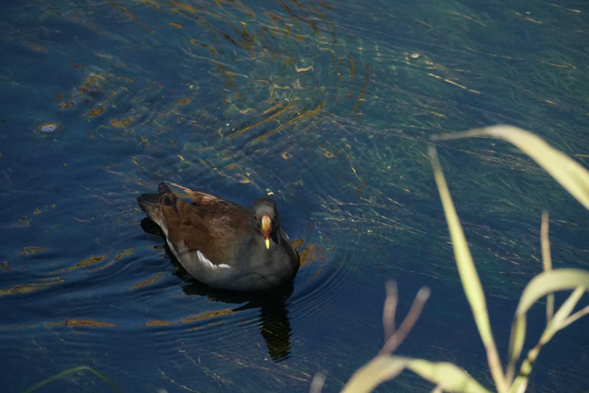
<svg viewBox="0 0 589 393">
<path fill-rule="evenodd" d="M 78 365 L 125 392 L 305 392 L 319 371 L 323 391 L 339 391 L 382 347 L 388 279 L 398 323 L 432 289 L 396 353 L 452 361 L 492 388 L 426 142 L 508 123 L 587 167 L 589 10 L 284 4 L 5 6 L 2 391 Z M 542 270 L 541 211 L 553 265 L 585 269 L 589 214 L 505 142 L 438 152 L 505 360 L 519 294 Z M 160 181 L 243 205 L 274 198 L 305 256 L 292 287 L 241 297 L 194 281 L 141 226 L 135 198 Z M 532 308 L 528 347 L 544 318 Z M 542 349 L 529 391 L 589 389 L 587 328 L 581 319 Z M 432 388 L 403 372 L 378 391 Z M 39 391 L 108 389 L 82 371 Z"/>
</svg>

